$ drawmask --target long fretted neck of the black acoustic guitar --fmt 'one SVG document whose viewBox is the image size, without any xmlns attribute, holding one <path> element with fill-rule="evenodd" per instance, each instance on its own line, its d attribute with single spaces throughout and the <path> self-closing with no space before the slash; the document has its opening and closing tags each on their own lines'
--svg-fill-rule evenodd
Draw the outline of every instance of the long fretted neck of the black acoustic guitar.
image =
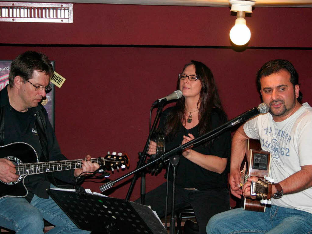
<svg viewBox="0 0 312 234">
<path fill-rule="evenodd" d="M 76 160 L 64 160 L 64 161 L 51 161 L 51 162 L 34 162 L 34 163 L 24 163 L 16 165 L 15 169 L 19 175 L 31 175 L 44 172 L 56 172 L 71 170 L 82 167 L 82 161 L 85 159 Z M 91 158 L 92 163 L 97 162 L 98 164 L 105 165 L 104 158 Z"/>
</svg>

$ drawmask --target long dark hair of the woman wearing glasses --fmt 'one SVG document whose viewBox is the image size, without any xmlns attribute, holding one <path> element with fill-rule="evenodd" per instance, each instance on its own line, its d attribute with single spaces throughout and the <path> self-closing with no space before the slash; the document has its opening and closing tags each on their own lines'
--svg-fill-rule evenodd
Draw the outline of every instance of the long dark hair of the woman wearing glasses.
<svg viewBox="0 0 312 234">
<path fill-rule="evenodd" d="M 186 64 L 183 68 L 189 65 L 194 65 L 196 76 L 199 78 L 202 84 L 202 90 L 200 91 L 200 97 L 197 102 L 197 107 L 199 106 L 198 112 L 198 134 L 201 136 L 206 132 L 212 130 L 211 113 L 215 110 L 220 118 L 220 124 L 227 121 L 227 115 L 223 111 L 221 105 L 218 89 L 213 78 L 212 71 L 202 62 L 197 62 L 192 60 L 190 63 Z M 191 81 L 192 82 L 192 81 Z M 177 81 L 177 89 L 180 88 L 180 80 Z M 184 96 L 178 99 L 173 112 L 169 113 L 167 116 L 167 123 L 164 129 L 166 136 L 174 136 L 177 134 L 179 125 L 186 122 L 185 119 L 185 106 L 184 106 Z M 200 104 L 200 105 L 199 105 Z"/>
</svg>

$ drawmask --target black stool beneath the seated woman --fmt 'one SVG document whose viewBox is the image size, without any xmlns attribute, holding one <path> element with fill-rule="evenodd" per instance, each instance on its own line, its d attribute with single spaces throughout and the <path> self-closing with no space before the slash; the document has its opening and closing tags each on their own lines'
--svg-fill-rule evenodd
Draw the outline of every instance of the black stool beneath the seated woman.
<svg viewBox="0 0 312 234">
<path fill-rule="evenodd" d="M 185 207 L 185 208 L 182 208 L 182 209 L 179 209 L 176 211 L 177 213 L 177 227 L 178 227 L 178 231 L 177 231 L 177 234 L 182 234 L 182 225 L 181 225 L 181 222 L 182 222 L 182 219 L 185 219 L 185 218 L 195 218 L 195 213 L 194 213 L 194 210 L 192 207 Z M 185 222 L 185 224 L 187 224 L 187 227 L 189 229 L 188 233 L 189 234 L 195 234 L 195 233 L 198 233 L 199 234 L 199 231 L 198 230 L 198 225 L 197 227 L 193 227 L 194 225 L 196 225 L 196 223 L 193 223 L 192 221 L 189 221 L 188 220 Z M 186 234 L 186 226 L 184 224 L 184 233 Z M 191 230 L 191 231 L 190 231 Z"/>
</svg>

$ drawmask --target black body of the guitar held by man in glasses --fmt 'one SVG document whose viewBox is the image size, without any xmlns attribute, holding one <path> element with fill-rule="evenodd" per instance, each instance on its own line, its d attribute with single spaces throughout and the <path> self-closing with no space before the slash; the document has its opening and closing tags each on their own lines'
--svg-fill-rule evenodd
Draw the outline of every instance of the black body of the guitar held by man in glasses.
<svg viewBox="0 0 312 234">
<path fill-rule="evenodd" d="M 24 142 L 14 142 L 1 146 L 0 158 L 6 158 L 13 162 L 14 165 L 38 162 L 38 156 L 34 148 Z M 26 176 L 20 175 L 16 182 L 11 183 L 5 183 L 0 180 L 0 199 L 2 197 L 26 197 L 28 194 L 24 185 Z"/>
</svg>

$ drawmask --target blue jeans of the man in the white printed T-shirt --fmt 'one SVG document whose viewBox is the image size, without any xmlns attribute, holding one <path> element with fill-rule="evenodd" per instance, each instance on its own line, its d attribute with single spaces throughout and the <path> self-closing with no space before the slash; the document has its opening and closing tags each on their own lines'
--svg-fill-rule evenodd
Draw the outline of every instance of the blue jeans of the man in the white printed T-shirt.
<svg viewBox="0 0 312 234">
<path fill-rule="evenodd" d="M 278 206 L 266 207 L 266 212 L 244 211 L 243 208 L 213 216 L 207 234 L 307 234 L 312 233 L 312 214 Z"/>
</svg>

